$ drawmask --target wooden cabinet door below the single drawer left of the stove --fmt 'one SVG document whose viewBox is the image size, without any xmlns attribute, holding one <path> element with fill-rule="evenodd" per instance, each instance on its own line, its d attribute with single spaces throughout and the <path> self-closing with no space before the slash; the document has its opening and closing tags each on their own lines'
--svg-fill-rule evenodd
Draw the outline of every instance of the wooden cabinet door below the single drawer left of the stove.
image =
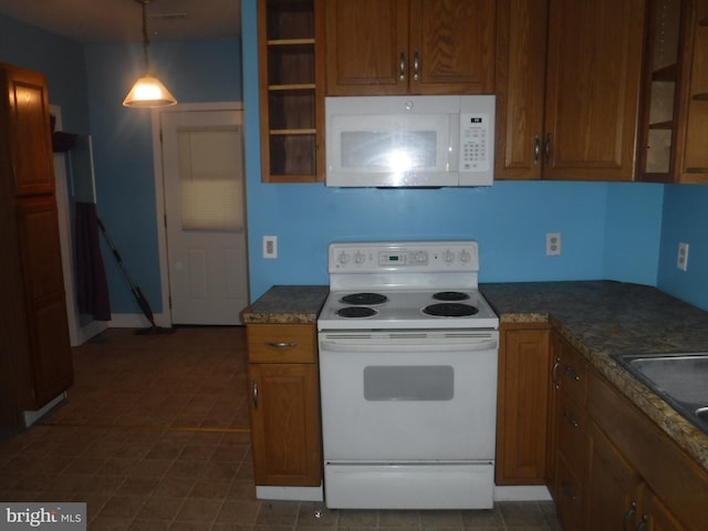
<svg viewBox="0 0 708 531">
<path fill-rule="evenodd" d="M 316 365 L 249 364 L 256 485 L 321 485 Z"/>
</svg>

